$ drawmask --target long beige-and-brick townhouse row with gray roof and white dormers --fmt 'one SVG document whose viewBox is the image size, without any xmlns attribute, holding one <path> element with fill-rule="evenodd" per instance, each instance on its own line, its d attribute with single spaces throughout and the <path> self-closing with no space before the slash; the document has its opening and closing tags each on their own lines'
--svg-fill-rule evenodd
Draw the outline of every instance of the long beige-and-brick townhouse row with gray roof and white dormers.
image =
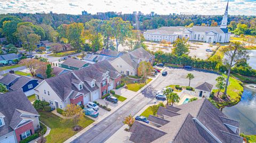
<svg viewBox="0 0 256 143">
<path fill-rule="evenodd" d="M 45 79 L 34 90 L 37 99 L 64 109 L 68 104 L 81 106 L 97 100 L 120 82 L 121 74 L 108 61 L 102 61 Z"/>
</svg>

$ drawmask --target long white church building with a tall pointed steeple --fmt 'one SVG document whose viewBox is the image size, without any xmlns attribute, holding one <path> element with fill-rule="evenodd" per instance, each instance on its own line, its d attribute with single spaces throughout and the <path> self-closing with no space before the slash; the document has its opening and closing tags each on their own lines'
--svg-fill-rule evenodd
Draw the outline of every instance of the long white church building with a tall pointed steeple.
<svg viewBox="0 0 256 143">
<path fill-rule="evenodd" d="M 167 41 L 173 43 L 178 37 L 188 38 L 190 41 L 201 41 L 205 43 L 228 43 L 230 32 L 227 28 L 228 4 L 223 15 L 220 27 L 193 26 L 187 27 L 161 27 L 147 30 L 143 33 L 147 41 Z"/>
</svg>

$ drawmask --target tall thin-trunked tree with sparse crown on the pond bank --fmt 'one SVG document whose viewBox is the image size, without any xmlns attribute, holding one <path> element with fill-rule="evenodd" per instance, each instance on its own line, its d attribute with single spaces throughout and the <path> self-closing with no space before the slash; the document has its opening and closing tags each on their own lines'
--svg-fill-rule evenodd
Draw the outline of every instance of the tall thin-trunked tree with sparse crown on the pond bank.
<svg viewBox="0 0 256 143">
<path fill-rule="evenodd" d="M 250 58 L 249 52 L 243 49 L 244 47 L 242 43 L 240 43 L 239 41 L 236 41 L 234 45 L 230 44 L 228 47 L 222 49 L 222 52 L 225 53 L 225 56 L 226 56 L 223 60 L 223 64 L 226 65 L 226 68 L 228 69 L 224 95 L 227 95 L 227 88 L 228 88 L 231 68 L 234 65 L 236 65 L 239 61 L 241 60 L 247 61 Z"/>
</svg>

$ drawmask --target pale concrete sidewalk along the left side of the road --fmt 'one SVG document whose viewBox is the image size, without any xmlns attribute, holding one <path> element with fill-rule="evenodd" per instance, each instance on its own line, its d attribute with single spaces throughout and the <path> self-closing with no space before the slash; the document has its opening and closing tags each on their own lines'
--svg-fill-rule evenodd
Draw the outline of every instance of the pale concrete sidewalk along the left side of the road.
<svg viewBox="0 0 256 143">
<path fill-rule="evenodd" d="M 166 68 L 166 67 L 165 67 Z M 162 69 L 162 71 L 165 70 L 165 68 Z M 119 107 L 123 106 L 124 104 L 126 104 L 127 102 L 129 102 L 129 100 L 131 100 L 133 97 L 135 97 L 136 95 L 138 95 L 143 89 L 147 88 L 151 83 L 153 83 L 158 77 L 159 75 L 161 75 L 161 73 L 157 74 L 157 76 L 151 80 L 147 85 L 145 85 L 144 87 L 142 87 L 140 90 L 138 90 L 137 92 L 133 92 L 131 90 L 128 89 L 114 89 L 114 91 L 116 92 L 116 94 L 119 94 L 121 96 L 126 97 L 127 99 L 122 103 L 119 104 L 118 106 L 116 106 L 114 109 L 111 109 L 110 112 L 108 112 L 106 115 L 104 115 L 105 117 L 101 117 L 101 119 L 98 119 L 97 121 L 94 121 L 92 124 L 90 124 L 89 126 L 87 126 L 86 128 L 84 128 L 82 131 L 79 131 L 78 133 L 76 133 L 73 137 L 69 138 L 68 140 L 65 141 L 65 143 L 71 142 L 73 140 L 75 140 L 76 138 L 78 138 L 79 136 L 81 136 L 83 133 L 85 133 L 87 130 L 89 130 L 90 128 L 92 128 L 94 125 L 96 125 L 97 123 L 99 123 L 100 121 L 102 121 L 103 119 L 105 119 L 106 117 L 108 117 L 110 114 L 114 113 L 116 110 L 118 110 Z M 127 94 L 129 93 L 129 94 Z M 126 95 L 127 94 L 127 95 Z M 103 109 L 102 109 L 103 110 Z M 144 110 L 143 110 L 144 111 Z M 142 111 L 142 112 L 143 112 Z M 95 119 L 94 119 L 95 120 Z M 125 128 L 124 128 L 125 129 Z M 119 130 L 118 130 L 119 131 Z M 112 137 L 112 136 L 111 136 Z M 130 136 L 129 136 L 130 137 Z M 128 138 L 129 139 L 129 138 Z"/>
</svg>

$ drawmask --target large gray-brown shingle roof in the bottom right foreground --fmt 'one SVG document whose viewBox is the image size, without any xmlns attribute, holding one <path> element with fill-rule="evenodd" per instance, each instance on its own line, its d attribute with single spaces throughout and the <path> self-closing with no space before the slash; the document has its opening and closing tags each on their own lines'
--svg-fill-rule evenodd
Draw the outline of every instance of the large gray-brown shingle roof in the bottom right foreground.
<svg viewBox="0 0 256 143">
<path fill-rule="evenodd" d="M 218 108 L 214 107 L 207 99 L 199 99 L 176 107 L 180 108 L 180 110 L 177 111 L 180 115 L 165 117 L 164 120 L 169 122 L 159 127 L 159 129 L 166 132 L 166 134 L 152 142 L 217 142 L 208 131 L 221 142 L 243 142 L 242 137 L 237 136 L 237 133 L 231 131 L 224 124 L 227 123 L 226 120 L 224 120 L 225 122 L 222 121 L 223 117 L 225 119 L 227 118 L 226 115 L 219 111 Z M 163 110 L 163 107 L 159 107 L 158 112 L 164 113 Z M 239 125 L 238 122 L 235 123 Z M 207 131 L 204 128 L 206 128 Z M 148 132 L 150 128 L 136 128 L 133 130 L 138 131 L 132 132 L 132 136 L 136 136 L 132 141 L 141 142 L 141 138 L 147 137 L 144 132 Z"/>
</svg>

